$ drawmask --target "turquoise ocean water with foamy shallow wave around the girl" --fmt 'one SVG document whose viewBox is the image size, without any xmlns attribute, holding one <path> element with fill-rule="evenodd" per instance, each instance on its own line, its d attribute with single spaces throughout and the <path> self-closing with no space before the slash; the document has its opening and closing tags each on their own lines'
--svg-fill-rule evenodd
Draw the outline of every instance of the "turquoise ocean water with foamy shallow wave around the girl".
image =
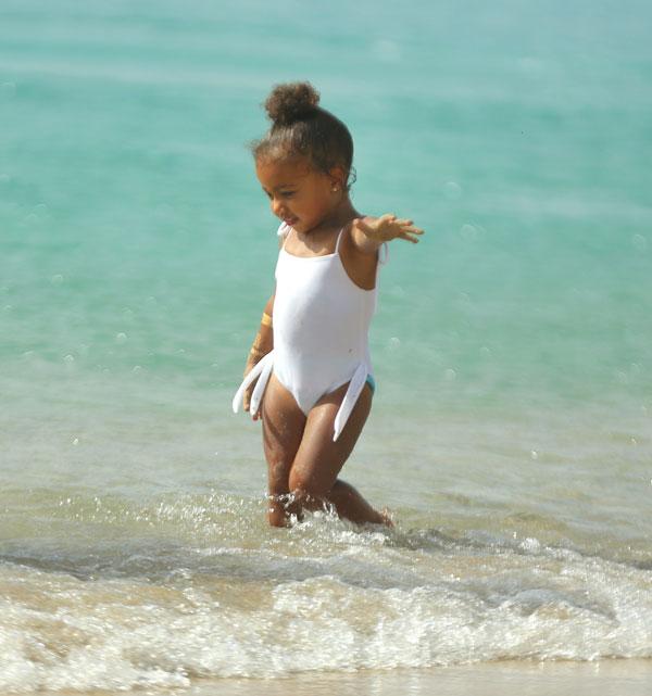
<svg viewBox="0 0 652 696">
<path fill-rule="evenodd" d="M 652 657 L 649 3 L 0 4 L 0 691 Z M 312 80 L 412 216 L 343 469 L 264 520 L 247 143 Z"/>
</svg>

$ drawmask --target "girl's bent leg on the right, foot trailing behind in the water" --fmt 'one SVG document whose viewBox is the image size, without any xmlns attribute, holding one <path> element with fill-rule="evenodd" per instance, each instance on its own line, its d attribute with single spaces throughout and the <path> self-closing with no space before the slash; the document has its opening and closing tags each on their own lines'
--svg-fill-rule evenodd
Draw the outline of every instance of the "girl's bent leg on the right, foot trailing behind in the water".
<svg viewBox="0 0 652 696">
<path fill-rule="evenodd" d="M 362 432 L 372 407 L 372 390 L 364 388 L 337 442 L 333 442 L 334 422 L 348 384 L 323 396 L 310 412 L 301 443 L 289 472 L 289 490 L 306 509 L 331 503 L 337 514 L 352 522 L 386 523 L 387 516 L 375 510 L 351 485 L 338 479 Z"/>
</svg>

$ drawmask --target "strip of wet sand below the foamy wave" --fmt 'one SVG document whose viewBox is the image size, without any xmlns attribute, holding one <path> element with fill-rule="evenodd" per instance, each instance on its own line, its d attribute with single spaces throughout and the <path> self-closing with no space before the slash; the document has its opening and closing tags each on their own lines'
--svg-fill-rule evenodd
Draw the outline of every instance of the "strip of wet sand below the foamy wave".
<svg viewBox="0 0 652 696">
<path fill-rule="evenodd" d="M 423 670 L 196 680 L 178 689 L 39 692 L 40 696 L 650 696 L 652 659 L 489 662 Z"/>
</svg>

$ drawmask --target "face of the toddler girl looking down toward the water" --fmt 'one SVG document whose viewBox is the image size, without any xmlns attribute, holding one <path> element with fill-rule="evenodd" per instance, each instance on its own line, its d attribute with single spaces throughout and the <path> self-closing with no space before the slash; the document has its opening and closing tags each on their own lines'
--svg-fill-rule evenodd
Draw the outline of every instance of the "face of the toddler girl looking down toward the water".
<svg viewBox="0 0 652 696">
<path fill-rule="evenodd" d="M 256 162 L 255 172 L 272 212 L 298 232 L 309 232 L 333 211 L 334 178 L 306 160 Z"/>
</svg>

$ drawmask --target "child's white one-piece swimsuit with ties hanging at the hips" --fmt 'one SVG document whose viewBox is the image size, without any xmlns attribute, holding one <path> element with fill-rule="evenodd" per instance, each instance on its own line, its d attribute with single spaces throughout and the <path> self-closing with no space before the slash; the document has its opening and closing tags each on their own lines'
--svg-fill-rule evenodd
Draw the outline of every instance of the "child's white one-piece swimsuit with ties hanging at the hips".
<svg viewBox="0 0 652 696">
<path fill-rule="evenodd" d="M 287 239 L 290 230 L 283 223 L 278 233 Z M 260 377 L 250 404 L 251 413 L 258 410 L 272 370 L 306 416 L 322 396 L 350 382 L 335 418 L 333 439 L 339 438 L 372 377 L 368 328 L 377 292 L 359 288 L 347 275 L 339 255 L 342 231 L 335 253 L 325 256 L 288 254 L 284 241 L 275 274 L 274 350 L 244 378 L 234 412 Z"/>
</svg>

